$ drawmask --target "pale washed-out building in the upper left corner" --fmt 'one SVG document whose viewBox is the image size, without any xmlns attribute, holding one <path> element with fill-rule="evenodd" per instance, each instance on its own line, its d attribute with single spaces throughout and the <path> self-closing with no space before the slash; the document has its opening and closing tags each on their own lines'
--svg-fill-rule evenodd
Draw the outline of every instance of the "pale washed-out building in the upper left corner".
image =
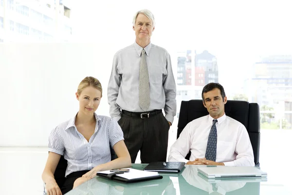
<svg viewBox="0 0 292 195">
<path fill-rule="evenodd" d="M 0 0 L 0 42 L 72 39 L 70 0 Z"/>
</svg>

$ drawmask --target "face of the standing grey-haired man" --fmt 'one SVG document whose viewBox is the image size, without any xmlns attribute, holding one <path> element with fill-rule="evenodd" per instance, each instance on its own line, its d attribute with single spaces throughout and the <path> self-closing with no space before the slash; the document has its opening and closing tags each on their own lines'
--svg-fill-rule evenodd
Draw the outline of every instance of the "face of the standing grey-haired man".
<svg viewBox="0 0 292 195">
<path fill-rule="evenodd" d="M 136 39 L 146 41 L 150 39 L 154 31 L 153 22 L 144 14 L 138 14 L 133 30 L 135 31 Z"/>
</svg>

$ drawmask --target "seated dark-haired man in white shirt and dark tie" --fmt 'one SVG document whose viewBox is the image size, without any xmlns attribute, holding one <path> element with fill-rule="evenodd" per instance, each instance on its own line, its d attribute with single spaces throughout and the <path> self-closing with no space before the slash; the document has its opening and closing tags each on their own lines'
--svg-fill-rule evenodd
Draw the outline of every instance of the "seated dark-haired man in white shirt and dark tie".
<svg viewBox="0 0 292 195">
<path fill-rule="evenodd" d="M 210 115 L 189 122 L 171 146 L 168 160 L 195 165 L 255 166 L 247 130 L 227 117 L 224 89 L 209 83 L 202 90 L 203 105 Z M 190 160 L 185 159 L 191 151 Z"/>
</svg>

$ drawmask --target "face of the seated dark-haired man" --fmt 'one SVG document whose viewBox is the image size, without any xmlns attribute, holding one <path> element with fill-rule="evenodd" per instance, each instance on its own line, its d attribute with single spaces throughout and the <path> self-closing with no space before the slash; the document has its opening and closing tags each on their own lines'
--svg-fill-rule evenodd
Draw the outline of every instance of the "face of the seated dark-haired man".
<svg viewBox="0 0 292 195">
<path fill-rule="evenodd" d="M 224 105 L 227 102 L 227 98 L 223 99 L 218 88 L 213 89 L 207 93 L 203 94 L 204 100 L 203 104 L 207 108 L 210 116 L 217 119 L 224 115 Z"/>
</svg>

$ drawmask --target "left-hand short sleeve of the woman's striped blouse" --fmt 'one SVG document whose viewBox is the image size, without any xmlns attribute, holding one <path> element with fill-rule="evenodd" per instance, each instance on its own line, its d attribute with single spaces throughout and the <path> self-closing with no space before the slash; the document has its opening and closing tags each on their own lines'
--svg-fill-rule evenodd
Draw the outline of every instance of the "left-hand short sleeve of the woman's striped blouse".
<svg viewBox="0 0 292 195">
<path fill-rule="evenodd" d="M 49 152 L 54 152 L 59 155 L 64 155 L 64 141 L 60 136 L 59 129 L 56 127 L 49 137 Z"/>
</svg>

